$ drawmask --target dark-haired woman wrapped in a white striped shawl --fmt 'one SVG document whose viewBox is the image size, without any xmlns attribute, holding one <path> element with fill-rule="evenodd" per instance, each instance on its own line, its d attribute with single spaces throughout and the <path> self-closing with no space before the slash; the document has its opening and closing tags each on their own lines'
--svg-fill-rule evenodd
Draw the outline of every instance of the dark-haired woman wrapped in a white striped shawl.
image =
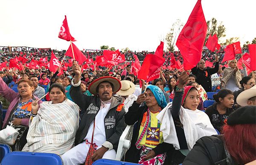
<svg viewBox="0 0 256 165">
<path fill-rule="evenodd" d="M 75 142 L 79 126 L 79 106 L 65 97 L 64 86 L 58 83 L 49 88 L 51 101 L 40 105 L 32 102 L 27 143 L 22 151 L 54 153 L 61 156 Z"/>
</svg>

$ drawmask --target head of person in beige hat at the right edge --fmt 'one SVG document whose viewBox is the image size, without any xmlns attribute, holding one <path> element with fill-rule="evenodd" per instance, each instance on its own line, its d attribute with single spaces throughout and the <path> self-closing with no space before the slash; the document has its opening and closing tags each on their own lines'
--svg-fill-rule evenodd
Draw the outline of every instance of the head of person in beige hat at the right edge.
<svg viewBox="0 0 256 165">
<path fill-rule="evenodd" d="M 256 85 L 250 89 L 242 91 L 236 98 L 236 102 L 241 106 L 256 106 Z"/>
</svg>

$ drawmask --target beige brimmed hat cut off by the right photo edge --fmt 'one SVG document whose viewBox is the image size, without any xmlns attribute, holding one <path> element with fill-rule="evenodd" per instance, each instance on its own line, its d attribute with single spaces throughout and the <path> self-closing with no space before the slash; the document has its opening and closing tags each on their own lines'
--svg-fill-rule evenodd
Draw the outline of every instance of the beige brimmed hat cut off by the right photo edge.
<svg viewBox="0 0 256 165">
<path fill-rule="evenodd" d="M 250 89 L 242 91 L 236 98 L 236 102 L 241 106 L 246 106 L 248 105 L 247 101 L 252 97 L 256 97 L 256 85 Z"/>
</svg>

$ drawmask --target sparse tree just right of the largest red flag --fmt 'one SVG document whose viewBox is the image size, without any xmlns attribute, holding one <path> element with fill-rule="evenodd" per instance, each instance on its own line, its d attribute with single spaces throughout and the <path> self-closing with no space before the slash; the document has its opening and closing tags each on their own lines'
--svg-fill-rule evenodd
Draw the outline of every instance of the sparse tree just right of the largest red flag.
<svg viewBox="0 0 256 165">
<path fill-rule="evenodd" d="M 222 37 L 226 37 L 226 27 L 224 25 L 222 25 L 222 22 L 219 22 L 215 19 L 215 18 L 212 18 L 212 20 L 208 20 L 207 21 L 207 34 L 206 34 L 206 38 L 204 40 L 204 45 L 206 44 L 208 38 L 209 38 L 209 35 L 214 35 L 214 34 L 217 34 L 217 37 L 218 37 L 218 41 L 220 41 L 220 39 Z"/>
</svg>

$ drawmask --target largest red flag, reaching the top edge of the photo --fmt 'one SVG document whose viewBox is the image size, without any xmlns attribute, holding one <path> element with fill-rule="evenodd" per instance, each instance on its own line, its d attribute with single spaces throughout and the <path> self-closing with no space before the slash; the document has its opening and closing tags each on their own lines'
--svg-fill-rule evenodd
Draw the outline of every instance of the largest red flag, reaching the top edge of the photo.
<svg viewBox="0 0 256 165">
<path fill-rule="evenodd" d="M 194 68 L 201 60 L 206 33 L 207 23 L 204 18 L 201 0 L 198 0 L 176 43 L 183 57 L 185 70 Z"/>
</svg>

